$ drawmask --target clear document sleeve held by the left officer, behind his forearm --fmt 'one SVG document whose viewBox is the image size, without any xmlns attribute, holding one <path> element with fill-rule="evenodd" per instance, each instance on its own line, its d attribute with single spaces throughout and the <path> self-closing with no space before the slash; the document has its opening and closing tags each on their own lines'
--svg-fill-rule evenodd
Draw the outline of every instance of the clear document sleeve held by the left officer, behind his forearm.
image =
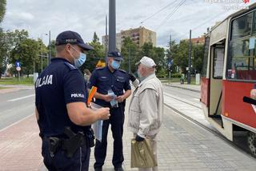
<svg viewBox="0 0 256 171">
<path fill-rule="evenodd" d="M 90 102 L 90 107 L 91 109 L 94 109 L 94 110 L 102 108 L 101 105 L 97 105 L 94 102 Z M 103 125 L 102 120 L 96 121 L 92 125 L 92 129 L 94 129 L 94 135 L 98 141 L 102 141 L 102 125 Z"/>
</svg>

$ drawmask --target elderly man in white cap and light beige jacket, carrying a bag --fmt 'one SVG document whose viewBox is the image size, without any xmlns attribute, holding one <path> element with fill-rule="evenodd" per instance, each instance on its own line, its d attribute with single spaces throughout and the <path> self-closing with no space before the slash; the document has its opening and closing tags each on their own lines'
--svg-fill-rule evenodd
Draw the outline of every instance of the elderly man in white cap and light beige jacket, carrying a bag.
<svg viewBox="0 0 256 171">
<path fill-rule="evenodd" d="M 129 107 L 128 127 L 136 141 L 150 137 L 157 160 L 157 134 L 162 124 L 162 83 L 155 76 L 154 60 L 143 57 L 138 63 L 140 84 L 134 90 Z M 157 167 L 139 170 L 158 170 Z"/>
</svg>

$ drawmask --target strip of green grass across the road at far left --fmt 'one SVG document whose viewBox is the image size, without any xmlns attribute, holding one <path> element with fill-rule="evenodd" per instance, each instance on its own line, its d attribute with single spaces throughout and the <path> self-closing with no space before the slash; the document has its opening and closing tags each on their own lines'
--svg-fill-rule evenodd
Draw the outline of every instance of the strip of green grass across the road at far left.
<svg viewBox="0 0 256 171">
<path fill-rule="evenodd" d="M 0 78 L 0 85 L 33 85 L 33 78 Z"/>
</svg>

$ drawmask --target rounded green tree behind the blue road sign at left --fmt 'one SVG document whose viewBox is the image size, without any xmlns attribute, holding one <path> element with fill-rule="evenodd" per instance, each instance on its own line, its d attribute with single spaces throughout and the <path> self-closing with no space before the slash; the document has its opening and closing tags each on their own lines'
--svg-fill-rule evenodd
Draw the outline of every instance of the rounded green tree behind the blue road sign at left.
<svg viewBox="0 0 256 171">
<path fill-rule="evenodd" d="M 11 62 L 21 62 L 22 74 L 32 74 L 34 70 L 38 70 L 40 59 L 38 58 L 41 51 L 40 42 L 26 38 L 19 42 L 11 51 Z"/>
</svg>

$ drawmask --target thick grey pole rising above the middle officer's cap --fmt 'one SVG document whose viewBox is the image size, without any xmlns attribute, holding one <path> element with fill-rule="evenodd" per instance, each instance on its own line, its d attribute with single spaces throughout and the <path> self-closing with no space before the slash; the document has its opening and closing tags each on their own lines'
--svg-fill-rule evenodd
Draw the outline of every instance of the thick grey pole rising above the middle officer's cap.
<svg viewBox="0 0 256 171">
<path fill-rule="evenodd" d="M 116 50 L 115 40 L 115 0 L 109 0 L 109 51 Z"/>
</svg>

